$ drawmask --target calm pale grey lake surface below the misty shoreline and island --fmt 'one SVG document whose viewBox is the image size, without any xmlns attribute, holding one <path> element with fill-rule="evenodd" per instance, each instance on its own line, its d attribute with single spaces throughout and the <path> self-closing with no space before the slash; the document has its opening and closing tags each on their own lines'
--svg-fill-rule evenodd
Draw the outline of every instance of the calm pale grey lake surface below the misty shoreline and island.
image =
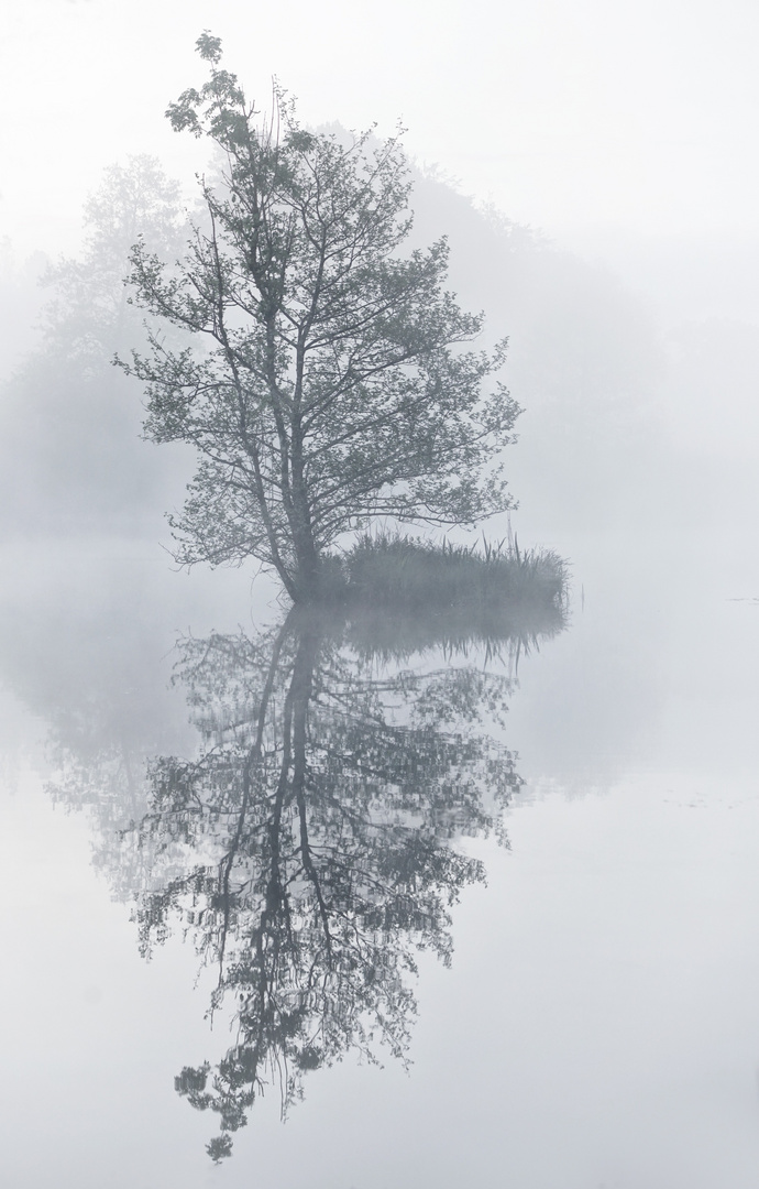
<svg viewBox="0 0 759 1189">
<path fill-rule="evenodd" d="M 255 971 L 242 967 L 260 924 L 253 910 L 272 894 L 266 814 L 251 810 L 239 831 L 248 849 L 233 867 L 233 900 L 203 900 L 188 880 L 217 864 L 239 825 L 239 805 L 223 798 L 242 787 L 280 609 L 268 587 L 251 594 L 249 577 L 188 578 L 148 546 L 8 547 L 4 1183 L 753 1189 L 759 565 L 745 540 L 735 529 L 708 543 L 695 531 L 562 542 L 575 575 L 568 630 L 521 655 L 518 673 L 513 659 L 486 663 L 476 648 L 382 663 L 365 647 L 359 663 L 360 642 L 352 653 L 342 638 L 320 637 L 306 656 L 291 640 L 291 665 L 308 671 L 318 703 L 304 747 L 321 793 L 311 791 L 306 824 L 343 965 L 335 989 L 320 965 L 324 921 L 310 924 L 316 883 L 298 851 L 293 793 L 278 837 L 290 848 L 282 881 L 297 945 L 283 921 L 279 932 L 268 926 L 266 952 L 276 949 L 279 963 L 266 967 L 270 1052 L 279 1042 L 284 1051 L 282 1013 L 305 1005 L 311 1024 L 320 1012 L 335 1024 L 340 1059 L 316 1068 L 323 1036 L 314 1039 L 306 1021 L 311 1042 L 287 1040 L 284 1062 L 285 1086 L 301 1062 L 303 1101 L 283 1125 L 274 1078 L 220 1166 L 204 1151 L 219 1112 L 194 1111 L 173 1080 L 208 1062 L 208 1092 L 230 1051 L 253 1059 L 263 1000 Z M 238 643 L 209 668 L 213 630 Z M 184 681 L 170 686 L 178 634 L 191 634 L 195 652 L 184 654 Z M 399 668 L 413 679 L 398 684 Z M 265 725 L 274 760 L 292 672 Z M 295 735 L 297 699 L 291 692 Z M 150 801 L 156 780 L 144 779 L 158 756 L 173 774 L 160 805 Z M 200 786 L 169 760 L 188 756 L 205 757 Z M 266 804 L 274 760 L 259 772 Z M 524 784 L 510 795 L 517 774 Z M 340 798 L 329 801 L 330 788 Z M 485 830 L 499 816 L 498 788 L 508 845 Z M 201 801 L 213 812 L 191 812 Z M 133 831 L 118 831 L 146 809 L 153 829 L 140 847 Z M 328 855 L 336 831 L 343 883 Z M 258 891 L 254 855 L 259 876 L 268 863 Z M 405 907 L 388 892 L 400 870 Z M 209 1020 L 214 946 L 230 905 L 228 995 Z M 150 961 L 135 911 L 154 931 L 172 925 L 165 943 L 153 937 Z M 368 936 L 373 912 L 384 914 L 387 944 L 352 964 L 360 948 L 344 921 L 353 913 L 350 927 L 359 920 Z M 441 961 L 448 939 L 450 965 Z M 419 940 L 418 976 L 400 977 Z M 399 988 L 413 992 L 416 1019 Z M 407 1068 L 392 1040 L 378 1050 L 384 1068 L 358 1055 L 356 1030 L 379 1036 L 378 1013 L 407 1025 Z"/>
</svg>

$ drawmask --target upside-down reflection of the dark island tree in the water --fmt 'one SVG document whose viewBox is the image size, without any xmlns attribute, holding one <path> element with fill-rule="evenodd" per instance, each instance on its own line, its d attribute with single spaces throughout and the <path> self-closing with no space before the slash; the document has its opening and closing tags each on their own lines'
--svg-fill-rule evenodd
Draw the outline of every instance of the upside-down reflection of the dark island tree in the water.
<svg viewBox="0 0 759 1189">
<path fill-rule="evenodd" d="M 512 754 L 477 731 L 510 678 L 466 658 L 387 672 L 371 643 L 359 660 L 346 640 L 344 625 L 291 612 L 254 640 L 185 641 L 178 678 L 203 749 L 152 765 L 150 811 L 124 836 L 131 870 L 135 848 L 153 856 L 143 950 L 181 924 L 219 969 L 211 1011 L 235 1005 L 224 1058 L 176 1080 L 220 1114 L 216 1159 L 267 1081 L 286 1109 L 304 1072 L 349 1049 L 404 1058 L 415 954 L 450 960 L 449 907 L 483 880 L 456 841 L 496 828 L 520 784 Z"/>
</svg>

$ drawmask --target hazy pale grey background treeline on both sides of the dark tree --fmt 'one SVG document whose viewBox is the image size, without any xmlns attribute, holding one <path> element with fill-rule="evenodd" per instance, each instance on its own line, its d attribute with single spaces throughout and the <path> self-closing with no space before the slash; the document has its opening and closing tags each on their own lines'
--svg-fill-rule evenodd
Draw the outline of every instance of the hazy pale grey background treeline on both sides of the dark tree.
<svg viewBox="0 0 759 1189">
<path fill-rule="evenodd" d="M 618 252 L 626 281 L 596 263 L 601 239 L 570 252 L 435 175 L 417 174 L 412 202 L 413 244 L 448 235 L 451 289 L 486 312 L 489 341 L 510 336 L 524 413 L 507 468 L 525 540 L 561 548 L 621 521 L 706 529 L 753 497 L 759 326 L 734 245 L 702 259 L 672 241 L 647 260 Z M 167 535 L 190 453 L 140 439 L 139 388 L 112 364 L 145 338 L 122 284 L 139 234 L 166 258 L 188 234 L 179 188 L 150 157 L 106 171 L 75 259 L 15 259 L 4 245 L 6 541 Z"/>
</svg>

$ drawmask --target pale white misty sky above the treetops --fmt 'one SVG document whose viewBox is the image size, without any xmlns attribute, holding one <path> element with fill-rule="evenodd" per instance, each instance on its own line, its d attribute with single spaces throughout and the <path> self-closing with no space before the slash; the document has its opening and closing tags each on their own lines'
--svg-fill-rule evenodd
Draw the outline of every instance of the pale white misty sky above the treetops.
<svg viewBox="0 0 759 1189">
<path fill-rule="evenodd" d="M 304 121 L 409 128 L 407 147 L 513 219 L 574 234 L 759 232 L 755 0 L 2 0 L 0 238 L 70 251 L 107 164 L 205 150 L 167 103 L 194 44 Z"/>
</svg>

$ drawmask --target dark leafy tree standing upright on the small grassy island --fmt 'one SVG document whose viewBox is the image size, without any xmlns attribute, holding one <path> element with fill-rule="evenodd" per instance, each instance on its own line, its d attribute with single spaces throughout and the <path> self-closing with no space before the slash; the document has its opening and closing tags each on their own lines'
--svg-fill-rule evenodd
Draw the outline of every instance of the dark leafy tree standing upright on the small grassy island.
<svg viewBox="0 0 759 1189">
<path fill-rule="evenodd" d="M 406 257 L 412 218 L 399 139 L 343 145 L 298 124 L 274 87 L 272 114 L 222 70 L 221 43 L 200 92 L 167 115 L 221 150 L 202 181 L 203 226 L 175 266 L 140 241 L 133 301 L 186 332 L 157 327 L 127 371 L 143 380 L 146 432 L 200 454 L 181 517 L 182 562 L 253 556 L 304 598 L 341 534 L 373 517 L 473 524 L 508 507 L 494 461 L 519 413 L 502 364 L 464 351 L 481 316 L 444 289 L 444 239 Z"/>
</svg>

